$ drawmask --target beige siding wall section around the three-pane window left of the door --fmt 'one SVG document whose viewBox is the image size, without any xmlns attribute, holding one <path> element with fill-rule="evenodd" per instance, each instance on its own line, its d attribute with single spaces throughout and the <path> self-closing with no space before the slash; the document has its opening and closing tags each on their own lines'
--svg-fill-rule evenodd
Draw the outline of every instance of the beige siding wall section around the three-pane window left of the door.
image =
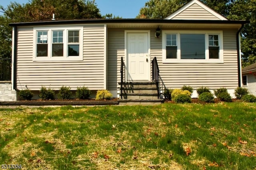
<svg viewBox="0 0 256 170">
<path fill-rule="evenodd" d="M 17 88 L 104 89 L 104 35 L 104 26 L 84 26 L 83 61 L 33 61 L 33 28 L 18 28 Z"/>
</svg>

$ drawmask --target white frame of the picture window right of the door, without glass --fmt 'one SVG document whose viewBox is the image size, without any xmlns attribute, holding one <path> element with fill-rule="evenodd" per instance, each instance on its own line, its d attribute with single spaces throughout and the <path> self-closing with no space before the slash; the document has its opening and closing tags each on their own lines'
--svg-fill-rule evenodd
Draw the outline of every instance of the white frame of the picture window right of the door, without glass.
<svg viewBox="0 0 256 170">
<path fill-rule="evenodd" d="M 166 34 L 176 34 L 177 41 L 177 58 L 166 59 Z M 180 56 L 180 34 L 205 34 L 205 59 L 181 59 Z M 209 59 L 209 37 L 208 35 L 219 36 L 219 59 Z M 224 63 L 223 60 L 223 32 L 222 31 L 209 31 L 209 30 L 163 30 L 162 31 L 162 61 L 163 63 Z"/>
</svg>

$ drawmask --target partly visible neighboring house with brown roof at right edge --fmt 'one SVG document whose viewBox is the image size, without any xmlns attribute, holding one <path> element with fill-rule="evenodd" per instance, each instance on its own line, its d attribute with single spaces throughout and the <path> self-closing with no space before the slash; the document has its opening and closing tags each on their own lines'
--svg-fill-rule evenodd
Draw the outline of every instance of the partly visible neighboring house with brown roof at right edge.
<svg viewBox="0 0 256 170">
<path fill-rule="evenodd" d="M 256 63 L 242 69 L 242 83 L 250 94 L 256 96 Z"/>
</svg>

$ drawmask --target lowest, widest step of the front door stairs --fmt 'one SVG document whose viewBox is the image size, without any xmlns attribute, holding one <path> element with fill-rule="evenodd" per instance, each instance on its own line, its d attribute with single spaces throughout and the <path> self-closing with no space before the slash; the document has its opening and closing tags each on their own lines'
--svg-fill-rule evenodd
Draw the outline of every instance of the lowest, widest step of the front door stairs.
<svg viewBox="0 0 256 170">
<path fill-rule="evenodd" d="M 164 99 L 119 99 L 119 105 L 160 105 Z"/>
</svg>

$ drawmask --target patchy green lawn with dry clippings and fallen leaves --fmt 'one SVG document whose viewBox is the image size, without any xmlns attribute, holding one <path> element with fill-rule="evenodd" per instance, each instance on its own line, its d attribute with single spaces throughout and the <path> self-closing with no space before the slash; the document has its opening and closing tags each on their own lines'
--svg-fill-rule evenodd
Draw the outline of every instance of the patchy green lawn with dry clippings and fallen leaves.
<svg viewBox="0 0 256 170">
<path fill-rule="evenodd" d="M 256 104 L 0 109 L 22 169 L 256 169 Z"/>
</svg>

